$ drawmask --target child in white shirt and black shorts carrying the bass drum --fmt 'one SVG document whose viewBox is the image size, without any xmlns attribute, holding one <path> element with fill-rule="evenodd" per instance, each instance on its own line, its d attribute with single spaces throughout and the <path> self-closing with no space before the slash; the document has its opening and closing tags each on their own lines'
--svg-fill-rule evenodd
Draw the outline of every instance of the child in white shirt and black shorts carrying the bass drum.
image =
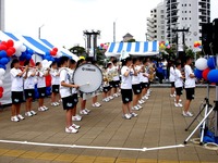
<svg viewBox="0 0 218 163">
<path fill-rule="evenodd" d="M 77 133 L 78 125 L 72 123 L 73 109 L 75 108 L 74 97 L 72 96 L 72 88 L 78 88 L 77 85 L 70 83 L 71 78 L 68 72 L 70 59 L 68 57 L 60 58 L 60 95 L 62 98 L 63 110 L 65 113 L 65 133 Z"/>
</svg>

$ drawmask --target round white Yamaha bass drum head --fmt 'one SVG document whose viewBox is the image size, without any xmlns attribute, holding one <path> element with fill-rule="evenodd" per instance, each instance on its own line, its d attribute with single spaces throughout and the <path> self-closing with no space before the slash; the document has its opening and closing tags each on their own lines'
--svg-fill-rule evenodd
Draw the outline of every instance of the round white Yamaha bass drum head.
<svg viewBox="0 0 218 163">
<path fill-rule="evenodd" d="M 75 70 L 73 80 L 80 86 L 82 92 L 94 92 L 102 84 L 102 73 L 96 65 L 82 64 Z"/>
</svg>

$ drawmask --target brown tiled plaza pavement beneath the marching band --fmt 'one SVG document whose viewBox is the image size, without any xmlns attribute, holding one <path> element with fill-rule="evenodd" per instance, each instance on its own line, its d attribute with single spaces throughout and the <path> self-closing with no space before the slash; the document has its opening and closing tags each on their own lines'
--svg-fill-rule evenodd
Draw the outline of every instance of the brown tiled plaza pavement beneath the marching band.
<svg viewBox="0 0 218 163">
<path fill-rule="evenodd" d="M 192 111 L 196 114 L 201 101 L 206 96 L 205 88 L 196 89 Z M 211 101 L 215 88 L 210 90 Z M 99 97 L 99 100 L 101 98 Z M 182 97 L 184 99 L 184 96 Z M 47 104 L 49 99 L 46 100 Z M 10 122 L 10 110 L 0 112 L 0 140 L 32 141 L 43 143 L 99 146 L 131 148 L 128 150 L 86 149 L 68 147 L 44 147 L 0 142 L 0 163 L 210 163 L 218 162 L 218 151 L 205 149 L 189 142 L 183 148 L 138 151 L 134 149 L 174 146 L 183 143 L 190 131 L 184 128 L 193 118 L 183 117 L 182 109 L 174 108 L 169 97 L 169 88 L 153 88 L 149 100 L 137 111 L 138 117 L 121 117 L 121 99 L 104 103 L 99 109 L 90 108 L 92 113 L 77 123 L 78 134 L 64 133 L 64 112 L 61 106 L 48 112 L 26 117 L 20 123 Z M 35 108 L 37 102 L 34 103 Z M 24 109 L 23 109 L 24 111 Z M 193 137 L 197 137 L 196 133 Z"/>
</svg>

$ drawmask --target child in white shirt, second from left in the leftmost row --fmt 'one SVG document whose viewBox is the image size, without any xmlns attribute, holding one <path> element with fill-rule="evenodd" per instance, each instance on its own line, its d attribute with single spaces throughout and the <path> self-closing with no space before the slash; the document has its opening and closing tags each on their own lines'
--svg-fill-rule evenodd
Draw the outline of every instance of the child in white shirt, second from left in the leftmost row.
<svg viewBox="0 0 218 163">
<path fill-rule="evenodd" d="M 27 66 L 27 71 L 24 73 L 24 95 L 26 99 L 26 116 L 36 115 L 36 112 L 32 109 L 32 102 L 35 95 L 35 83 L 36 83 L 36 68 L 31 67 L 31 62 L 25 61 L 24 66 Z"/>
</svg>

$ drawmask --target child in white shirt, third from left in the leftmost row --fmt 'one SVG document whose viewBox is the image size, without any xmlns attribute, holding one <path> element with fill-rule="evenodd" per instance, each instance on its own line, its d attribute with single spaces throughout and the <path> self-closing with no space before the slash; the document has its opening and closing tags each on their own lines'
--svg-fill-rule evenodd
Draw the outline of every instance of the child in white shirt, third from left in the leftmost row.
<svg viewBox="0 0 218 163">
<path fill-rule="evenodd" d="M 44 105 L 44 99 L 46 97 L 46 78 L 45 78 L 45 76 L 47 76 L 49 74 L 49 70 L 47 72 L 45 72 L 45 70 L 43 70 L 43 65 L 40 62 L 37 62 L 36 66 L 38 68 L 38 71 L 36 73 L 37 89 L 38 89 L 38 93 L 39 93 L 38 111 L 44 112 L 44 111 L 48 110 L 48 108 L 46 105 Z"/>
</svg>

